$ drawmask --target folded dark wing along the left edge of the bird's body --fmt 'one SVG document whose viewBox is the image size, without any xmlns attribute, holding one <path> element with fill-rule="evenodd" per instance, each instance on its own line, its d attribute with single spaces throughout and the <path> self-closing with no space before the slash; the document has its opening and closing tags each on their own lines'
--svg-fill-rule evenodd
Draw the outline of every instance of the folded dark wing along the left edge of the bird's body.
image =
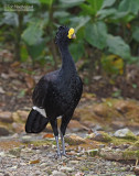
<svg viewBox="0 0 139 176">
<path fill-rule="evenodd" d="M 36 84 L 32 95 L 32 100 L 34 106 L 39 108 L 45 108 L 47 88 L 49 88 L 49 80 L 45 77 L 42 77 L 40 81 Z"/>
</svg>

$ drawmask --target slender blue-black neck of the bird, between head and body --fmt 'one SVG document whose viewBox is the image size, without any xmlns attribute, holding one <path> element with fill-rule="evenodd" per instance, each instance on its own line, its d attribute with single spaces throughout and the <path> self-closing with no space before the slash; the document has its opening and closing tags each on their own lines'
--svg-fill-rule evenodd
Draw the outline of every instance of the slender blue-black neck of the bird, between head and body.
<svg viewBox="0 0 139 176">
<path fill-rule="evenodd" d="M 72 55 L 68 51 L 68 45 L 60 46 L 60 52 L 62 55 L 62 69 L 76 72 L 74 61 L 73 61 Z"/>
</svg>

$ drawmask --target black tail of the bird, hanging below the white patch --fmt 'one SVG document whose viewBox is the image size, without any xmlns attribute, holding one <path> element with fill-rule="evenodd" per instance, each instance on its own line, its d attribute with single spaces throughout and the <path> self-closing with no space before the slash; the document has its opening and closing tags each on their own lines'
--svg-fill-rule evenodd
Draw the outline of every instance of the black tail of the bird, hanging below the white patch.
<svg viewBox="0 0 139 176">
<path fill-rule="evenodd" d="M 38 110 L 32 109 L 25 123 L 25 132 L 40 133 L 45 129 L 47 123 L 49 123 L 49 118 L 45 118 Z"/>
</svg>

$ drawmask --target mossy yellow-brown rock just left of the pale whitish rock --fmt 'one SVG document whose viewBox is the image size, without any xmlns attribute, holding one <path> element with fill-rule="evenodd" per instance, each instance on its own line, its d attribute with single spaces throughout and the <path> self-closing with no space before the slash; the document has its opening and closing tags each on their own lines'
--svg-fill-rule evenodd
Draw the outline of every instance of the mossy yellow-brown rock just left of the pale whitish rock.
<svg viewBox="0 0 139 176">
<path fill-rule="evenodd" d="M 111 136 L 103 131 L 90 133 L 87 138 L 89 138 L 90 140 L 100 141 L 100 142 L 110 142 L 111 141 Z"/>
</svg>

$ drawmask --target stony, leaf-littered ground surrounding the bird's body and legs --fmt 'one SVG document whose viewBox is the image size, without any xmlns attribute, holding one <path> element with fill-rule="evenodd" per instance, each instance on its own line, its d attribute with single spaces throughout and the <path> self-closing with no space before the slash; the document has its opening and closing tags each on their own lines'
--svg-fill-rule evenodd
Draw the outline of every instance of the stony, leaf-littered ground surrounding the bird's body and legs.
<svg viewBox="0 0 139 176">
<path fill-rule="evenodd" d="M 32 90 L 51 67 L 32 69 L 19 62 L 0 63 L 0 175 L 138 175 L 139 72 L 133 66 L 128 69 L 126 78 L 118 78 L 114 85 L 95 76 L 92 81 L 96 86 L 84 86 L 82 100 L 67 129 L 66 151 L 71 157 L 55 160 L 50 124 L 38 135 L 24 132 Z M 111 95 L 119 97 L 108 98 Z M 119 129 L 124 138 L 115 136 Z"/>
</svg>

